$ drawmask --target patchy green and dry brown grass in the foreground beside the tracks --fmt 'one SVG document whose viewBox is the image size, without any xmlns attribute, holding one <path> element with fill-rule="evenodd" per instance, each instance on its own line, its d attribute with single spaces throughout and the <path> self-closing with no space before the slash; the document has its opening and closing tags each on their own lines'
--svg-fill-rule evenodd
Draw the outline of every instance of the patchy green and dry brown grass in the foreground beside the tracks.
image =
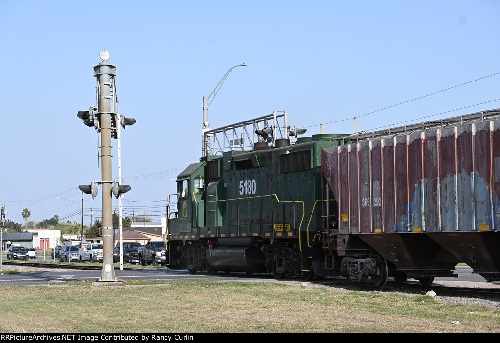
<svg viewBox="0 0 500 343">
<path fill-rule="evenodd" d="M 300 282 L 3 286 L 0 303 L 1 333 L 500 332 L 500 312 L 486 307 L 449 306 L 428 296 L 346 292 Z"/>
</svg>

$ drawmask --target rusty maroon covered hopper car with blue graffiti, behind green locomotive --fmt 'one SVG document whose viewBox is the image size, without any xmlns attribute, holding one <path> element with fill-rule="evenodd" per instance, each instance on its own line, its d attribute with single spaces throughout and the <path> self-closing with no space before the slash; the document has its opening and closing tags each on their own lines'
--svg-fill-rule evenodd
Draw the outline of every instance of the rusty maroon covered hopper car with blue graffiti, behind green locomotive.
<svg viewBox="0 0 500 343">
<path fill-rule="evenodd" d="M 343 139 L 322 152 L 323 237 L 348 277 L 429 284 L 466 263 L 500 280 L 500 109 Z"/>
</svg>

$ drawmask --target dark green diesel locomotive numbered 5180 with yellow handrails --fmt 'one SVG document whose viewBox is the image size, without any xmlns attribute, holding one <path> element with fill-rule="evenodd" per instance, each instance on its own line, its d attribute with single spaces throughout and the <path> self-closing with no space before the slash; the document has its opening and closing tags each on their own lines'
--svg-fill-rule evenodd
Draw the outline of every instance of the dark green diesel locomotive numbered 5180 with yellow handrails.
<svg viewBox="0 0 500 343">
<path fill-rule="evenodd" d="M 204 132 L 213 147 L 176 180 L 169 268 L 314 276 L 313 247 L 337 222 L 333 201 L 321 201 L 321 149 L 344 135 L 297 137 L 304 131 L 283 111 Z"/>
</svg>

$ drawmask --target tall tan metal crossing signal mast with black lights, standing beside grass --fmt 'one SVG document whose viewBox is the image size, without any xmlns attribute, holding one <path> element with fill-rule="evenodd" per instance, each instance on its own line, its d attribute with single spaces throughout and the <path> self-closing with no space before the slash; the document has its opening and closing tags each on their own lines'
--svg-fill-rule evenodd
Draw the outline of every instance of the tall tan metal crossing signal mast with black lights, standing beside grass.
<svg viewBox="0 0 500 343">
<path fill-rule="evenodd" d="M 94 127 L 100 132 L 100 159 L 101 159 L 101 180 L 92 181 L 90 185 L 78 186 L 80 191 L 91 194 L 94 198 L 97 195 L 95 184 L 101 185 L 102 191 L 102 272 L 99 282 L 114 282 L 113 269 L 113 220 L 112 220 L 112 196 L 121 197 L 121 195 L 130 190 L 130 186 L 121 185 L 121 176 L 118 181 L 112 180 L 111 173 L 111 138 L 118 139 L 119 147 L 119 126 L 135 124 L 134 118 L 125 118 L 117 112 L 116 88 L 114 76 L 116 76 L 116 67 L 109 64 L 109 52 L 102 50 L 99 53 L 102 59 L 94 70 L 94 76 L 97 79 L 96 101 L 97 107 L 90 107 L 86 111 L 78 111 L 77 117 L 83 120 L 86 126 Z M 119 162 L 119 152 L 118 152 Z M 118 163 L 118 170 L 120 169 Z"/>
</svg>

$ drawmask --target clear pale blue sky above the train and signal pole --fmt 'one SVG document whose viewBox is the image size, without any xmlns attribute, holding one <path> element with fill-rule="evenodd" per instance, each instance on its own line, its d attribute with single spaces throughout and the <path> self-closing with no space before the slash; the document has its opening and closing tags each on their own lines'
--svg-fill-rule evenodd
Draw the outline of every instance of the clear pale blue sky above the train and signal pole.
<svg viewBox="0 0 500 343">
<path fill-rule="evenodd" d="M 100 169 L 97 133 L 76 112 L 95 105 L 102 49 L 118 112 L 137 120 L 122 131 L 123 211 L 159 221 L 171 179 L 200 157 L 202 96 L 230 67 L 250 64 L 214 98 L 212 128 L 273 110 L 307 134 L 325 123 L 323 133 L 350 133 L 356 116 L 356 131 L 450 117 L 500 107 L 500 74 L 488 76 L 500 72 L 499 18 L 497 0 L 1 0 L 6 218 L 24 223 L 28 208 L 29 220 L 80 223 L 77 186 Z M 100 187 L 85 195 L 84 225 L 90 208 L 99 218 Z"/>
</svg>

